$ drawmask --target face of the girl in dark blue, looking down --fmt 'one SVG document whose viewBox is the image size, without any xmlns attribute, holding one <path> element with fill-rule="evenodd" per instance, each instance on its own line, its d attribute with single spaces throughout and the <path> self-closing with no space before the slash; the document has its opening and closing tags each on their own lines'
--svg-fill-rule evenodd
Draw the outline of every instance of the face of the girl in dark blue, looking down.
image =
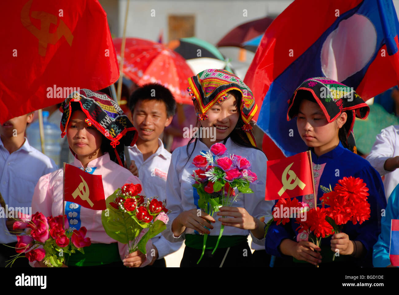
<svg viewBox="0 0 399 295">
<path fill-rule="evenodd" d="M 346 118 L 346 113 L 342 112 L 335 121 L 328 123 L 317 103 L 302 99 L 296 126 L 305 144 L 314 148 L 315 153 L 320 155 L 338 146 L 338 131 L 345 124 Z"/>
</svg>

